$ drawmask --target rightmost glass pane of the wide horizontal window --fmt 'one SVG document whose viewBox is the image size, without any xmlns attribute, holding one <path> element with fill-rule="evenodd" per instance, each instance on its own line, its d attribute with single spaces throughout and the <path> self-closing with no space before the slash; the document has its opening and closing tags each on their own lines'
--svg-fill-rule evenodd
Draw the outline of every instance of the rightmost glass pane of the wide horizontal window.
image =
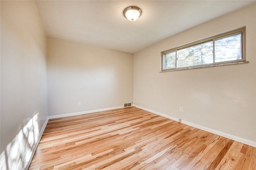
<svg viewBox="0 0 256 170">
<path fill-rule="evenodd" d="M 241 33 L 215 40 L 215 62 L 242 59 Z"/>
</svg>

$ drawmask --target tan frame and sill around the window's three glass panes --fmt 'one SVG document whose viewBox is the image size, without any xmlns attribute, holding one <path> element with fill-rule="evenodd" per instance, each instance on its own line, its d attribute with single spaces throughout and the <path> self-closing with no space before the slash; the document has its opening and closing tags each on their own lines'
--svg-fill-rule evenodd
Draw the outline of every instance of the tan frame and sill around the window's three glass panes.
<svg viewBox="0 0 256 170">
<path fill-rule="evenodd" d="M 238 59 L 238 60 L 232 60 L 232 61 L 223 61 L 223 62 L 215 62 L 215 40 L 216 39 L 220 39 L 220 38 L 224 38 L 224 37 L 229 37 L 232 35 L 236 35 L 238 33 L 241 33 L 241 37 L 242 37 L 242 41 L 241 41 L 241 47 L 242 47 L 242 59 Z M 201 65 L 194 65 L 194 66 L 186 66 L 186 67 L 179 67 L 178 66 L 178 51 L 184 48 L 188 48 L 191 46 L 196 46 L 202 43 L 206 43 L 208 41 L 212 41 L 213 42 L 213 63 L 211 64 L 201 64 Z M 168 69 L 164 69 L 164 55 L 167 53 L 171 53 L 171 52 L 176 52 L 176 68 L 168 68 Z M 233 31 L 229 31 L 226 33 L 222 33 L 219 35 L 214 35 L 212 37 L 208 37 L 199 41 L 195 41 L 192 43 L 188 43 L 186 45 L 182 45 L 173 49 L 169 49 L 166 51 L 162 51 L 161 52 L 161 70 L 160 72 L 166 72 L 166 71 L 174 71 L 174 70 L 186 70 L 186 69 L 192 69 L 192 68 L 204 68 L 204 67 L 212 67 L 212 66 L 223 66 L 223 65 L 231 65 L 231 64 L 242 64 L 242 63 L 248 63 L 248 61 L 246 61 L 246 27 L 242 27 L 240 29 L 236 29 Z"/>
</svg>

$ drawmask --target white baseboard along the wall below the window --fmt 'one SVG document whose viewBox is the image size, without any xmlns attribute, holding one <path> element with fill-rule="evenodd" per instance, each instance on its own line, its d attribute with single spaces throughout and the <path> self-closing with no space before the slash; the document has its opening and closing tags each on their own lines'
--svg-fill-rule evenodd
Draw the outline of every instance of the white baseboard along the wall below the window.
<svg viewBox="0 0 256 170">
<path fill-rule="evenodd" d="M 176 118 L 176 117 L 172 117 L 172 116 L 169 116 L 169 115 L 166 115 L 166 114 L 163 114 L 163 113 L 159 113 L 157 111 L 150 110 L 150 109 L 147 109 L 147 108 L 144 108 L 144 107 L 140 107 L 140 106 L 137 106 L 137 105 L 133 105 L 133 106 L 134 107 L 138 107 L 138 108 L 143 109 L 143 110 L 146 110 L 146 111 L 149 111 L 151 113 L 155 113 L 157 115 L 166 117 L 168 119 L 171 119 L 171 120 L 174 120 L 174 121 L 178 121 L 178 118 Z M 204 127 L 204 126 L 201 126 L 201 125 L 198 125 L 198 124 L 195 124 L 195 123 L 191 123 L 191 122 L 188 122 L 188 121 L 184 121 L 184 120 L 182 120 L 181 123 L 184 123 L 185 125 L 189 125 L 189 126 L 195 127 L 197 129 L 201 129 L 203 131 L 207 131 L 207 132 L 213 133 L 215 135 L 219 135 L 219 136 L 222 136 L 222 137 L 226 137 L 228 139 L 232 139 L 232 140 L 240 142 L 240 143 L 244 143 L 246 145 L 250 145 L 252 147 L 256 147 L 256 142 L 250 141 L 248 139 L 244 139 L 244 138 L 241 138 L 241 137 L 230 135 L 230 134 L 224 133 L 222 131 L 217 131 L 217 130 L 214 130 L 214 129 L 211 129 L 211 128 L 208 128 L 208 127 Z"/>
</svg>

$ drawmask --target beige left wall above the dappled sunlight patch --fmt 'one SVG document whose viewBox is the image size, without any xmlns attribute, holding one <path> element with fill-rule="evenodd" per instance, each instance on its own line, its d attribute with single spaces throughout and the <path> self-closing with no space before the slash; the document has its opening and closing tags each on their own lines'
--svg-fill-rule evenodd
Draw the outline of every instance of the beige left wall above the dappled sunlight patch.
<svg viewBox="0 0 256 170">
<path fill-rule="evenodd" d="M 1 152 L 37 113 L 42 129 L 46 76 L 46 36 L 34 1 L 1 0 Z"/>
</svg>

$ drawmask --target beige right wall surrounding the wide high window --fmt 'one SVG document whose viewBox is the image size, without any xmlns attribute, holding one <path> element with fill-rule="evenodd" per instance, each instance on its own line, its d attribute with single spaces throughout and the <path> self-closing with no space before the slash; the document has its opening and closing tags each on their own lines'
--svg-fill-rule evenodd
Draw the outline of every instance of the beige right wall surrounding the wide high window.
<svg viewBox="0 0 256 170">
<path fill-rule="evenodd" d="M 135 53 L 134 104 L 256 142 L 255 18 L 254 3 Z M 248 64 L 159 72 L 161 51 L 243 26 Z"/>
</svg>

